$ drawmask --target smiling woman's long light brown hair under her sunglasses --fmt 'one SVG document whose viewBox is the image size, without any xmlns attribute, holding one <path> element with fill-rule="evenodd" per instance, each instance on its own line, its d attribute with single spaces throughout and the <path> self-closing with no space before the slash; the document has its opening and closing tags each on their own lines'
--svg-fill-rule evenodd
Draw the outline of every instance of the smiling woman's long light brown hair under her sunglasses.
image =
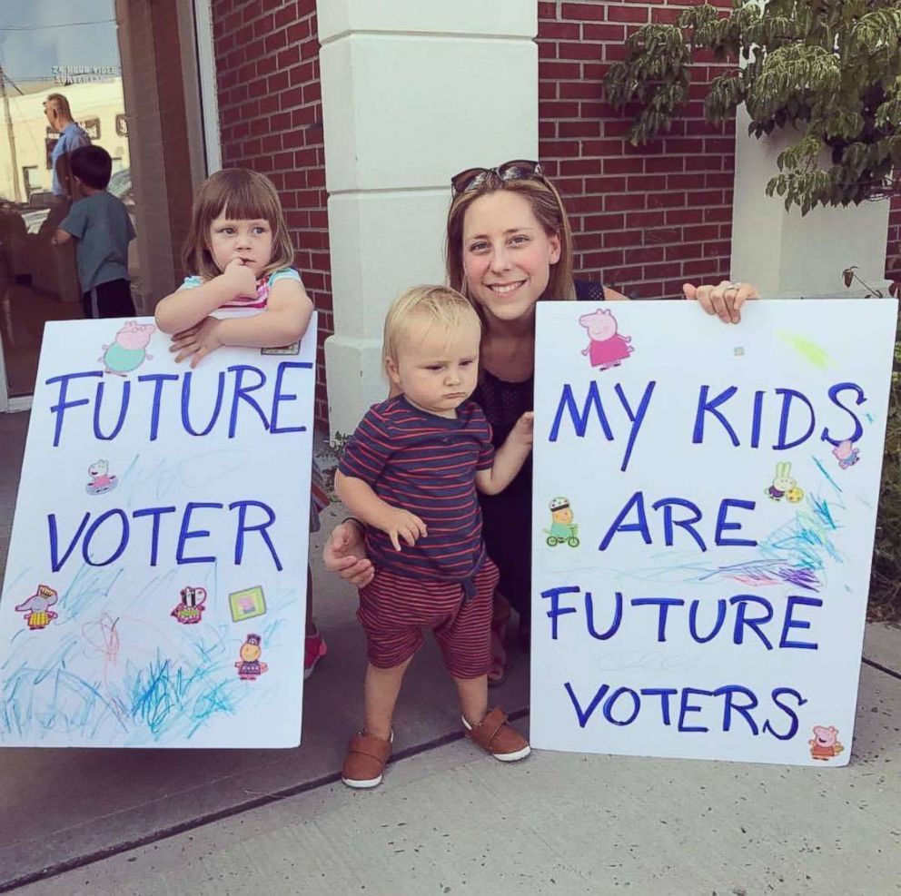
<svg viewBox="0 0 901 896">
<path fill-rule="evenodd" d="M 575 299 L 576 288 L 572 282 L 572 231 L 569 229 L 569 218 L 557 188 L 543 175 L 505 181 L 497 174 L 489 172 L 479 186 L 454 196 L 448 212 L 445 242 L 445 266 L 451 288 L 459 290 L 469 298 L 466 271 L 463 267 L 463 221 L 466 210 L 480 196 L 499 190 L 515 192 L 528 200 L 544 232 L 549 237 L 555 235 L 559 237 L 560 257 L 550 265 L 548 286 L 541 299 Z"/>
</svg>

